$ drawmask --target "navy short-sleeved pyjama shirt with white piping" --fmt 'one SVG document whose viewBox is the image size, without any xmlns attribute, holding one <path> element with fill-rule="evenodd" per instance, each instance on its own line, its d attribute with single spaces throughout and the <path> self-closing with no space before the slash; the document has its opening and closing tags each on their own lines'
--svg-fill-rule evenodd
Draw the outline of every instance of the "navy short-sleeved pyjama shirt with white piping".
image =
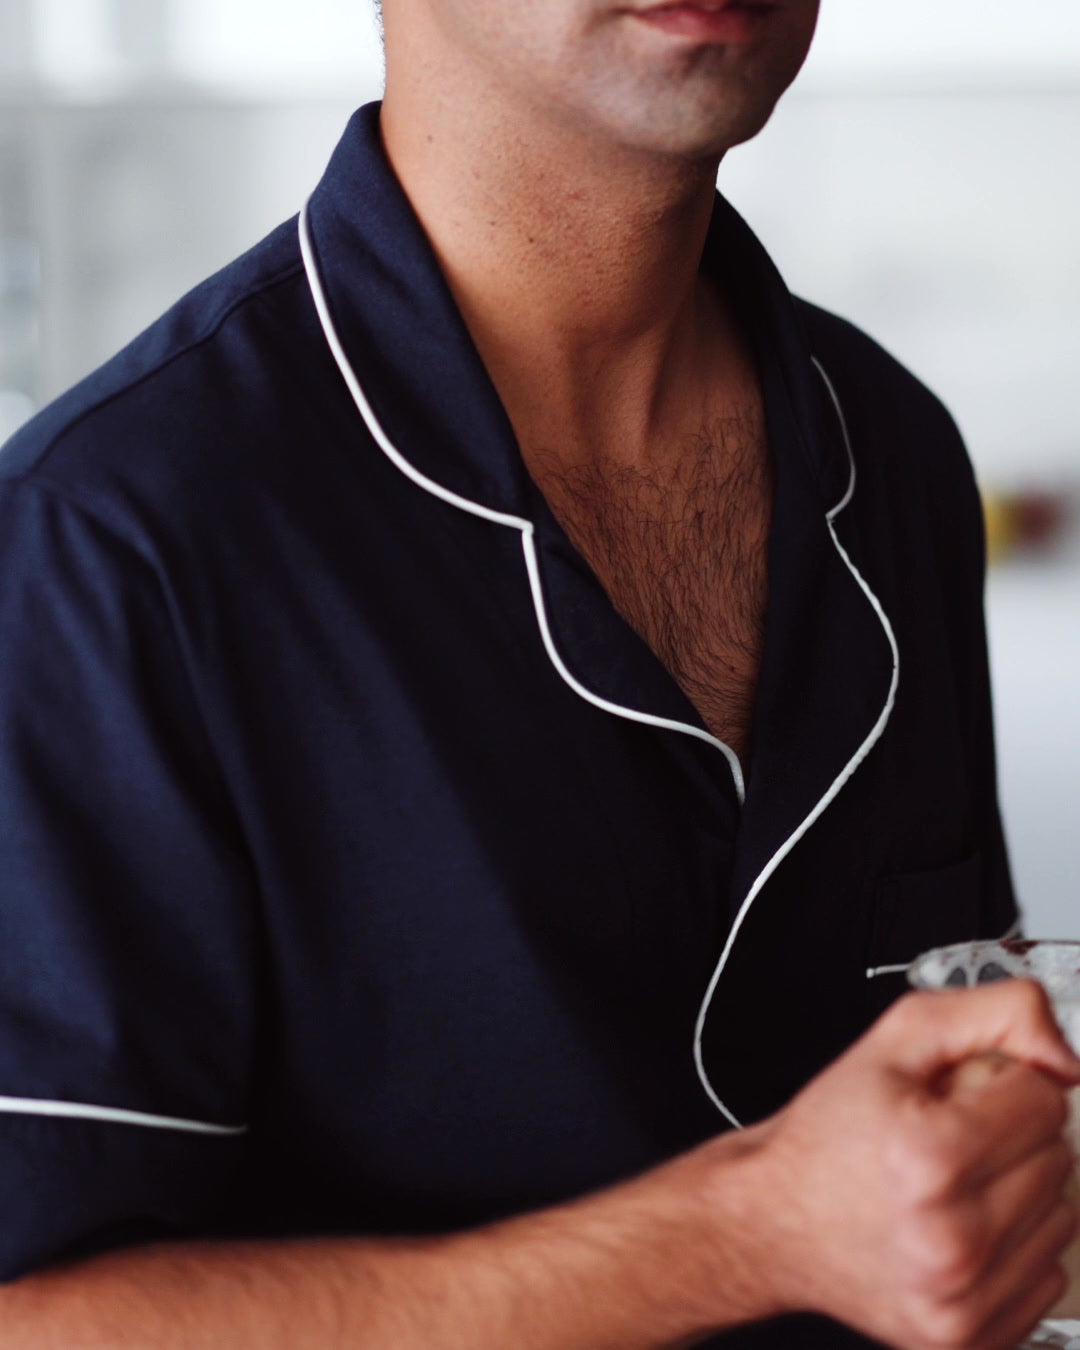
<svg viewBox="0 0 1080 1350">
<path fill-rule="evenodd" d="M 775 1111 L 900 991 L 869 969 L 1015 919 L 932 394 L 717 200 L 776 471 L 740 765 L 532 485 L 377 105 L 304 242 L 0 454 L 3 1277 L 566 1200 Z"/>
</svg>

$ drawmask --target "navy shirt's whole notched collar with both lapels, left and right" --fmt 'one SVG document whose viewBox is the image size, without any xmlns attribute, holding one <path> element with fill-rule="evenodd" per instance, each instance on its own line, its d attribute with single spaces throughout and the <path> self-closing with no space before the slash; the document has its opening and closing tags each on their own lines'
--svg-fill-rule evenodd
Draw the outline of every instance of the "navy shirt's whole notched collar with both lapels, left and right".
<svg viewBox="0 0 1080 1350">
<path fill-rule="evenodd" d="M 545 509 L 435 252 L 362 108 L 308 213 L 344 354 L 383 432 L 412 468 L 485 512 L 528 522 L 551 634 L 571 676 L 621 709 L 702 729 L 675 680 L 614 612 Z M 724 278 L 759 356 L 776 471 L 770 603 L 755 757 L 734 899 L 845 780 L 882 707 L 891 657 L 834 541 L 850 459 L 814 370 L 799 309 L 764 248 L 717 196 L 703 266 Z M 707 752 L 714 755 L 716 752 Z M 717 756 L 717 772 L 726 765 Z"/>
</svg>

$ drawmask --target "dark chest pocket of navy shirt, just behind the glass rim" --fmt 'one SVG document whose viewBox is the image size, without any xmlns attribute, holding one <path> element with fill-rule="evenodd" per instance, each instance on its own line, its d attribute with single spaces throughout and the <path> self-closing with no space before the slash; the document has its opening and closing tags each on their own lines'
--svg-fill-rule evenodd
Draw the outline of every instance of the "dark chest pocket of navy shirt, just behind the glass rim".
<svg viewBox="0 0 1080 1350">
<path fill-rule="evenodd" d="M 867 1002 L 876 1017 L 909 988 L 906 969 L 934 946 L 1002 937 L 986 913 L 983 856 L 879 883 L 867 950 Z"/>
</svg>

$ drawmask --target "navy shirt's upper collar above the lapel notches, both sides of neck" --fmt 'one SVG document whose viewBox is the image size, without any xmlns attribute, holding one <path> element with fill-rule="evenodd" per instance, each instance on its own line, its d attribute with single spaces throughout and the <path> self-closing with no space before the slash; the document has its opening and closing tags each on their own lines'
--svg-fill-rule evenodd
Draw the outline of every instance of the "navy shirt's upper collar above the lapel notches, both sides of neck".
<svg viewBox="0 0 1080 1350">
<path fill-rule="evenodd" d="M 352 116 L 309 207 L 312 246 L 346 355 L 416 470 L 489 510 L 531 518 L 535 497 L 513 428 L 386 158 L 379 107 Z M 846 460 L 829 431 L 798 312 L 764 248 L 721 196 L 703 266 L 725 277 L 752 316 L 759 350 L 780 371 L 798 454 L 830 504 L 842 493 Z"/>
</svg>

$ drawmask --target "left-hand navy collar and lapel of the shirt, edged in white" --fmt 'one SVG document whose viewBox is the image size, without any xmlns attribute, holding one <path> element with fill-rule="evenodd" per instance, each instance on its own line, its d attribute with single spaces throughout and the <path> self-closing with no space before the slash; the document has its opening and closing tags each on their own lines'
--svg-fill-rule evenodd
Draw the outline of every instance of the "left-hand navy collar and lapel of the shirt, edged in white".
<svg viewBox="0 0 1080 1350">
<path fill-rule="evenodd" d="M 382 148 L 378 104 L 350 122 L 308 208 L 329 317 L 375 421 L 423 478 L 514 517 L 559 662 L 593 702 L 711 741 L 554 518 L 437 259 Z M 726 770 L 725 770 L 726 772 Z"/>
</svg>

